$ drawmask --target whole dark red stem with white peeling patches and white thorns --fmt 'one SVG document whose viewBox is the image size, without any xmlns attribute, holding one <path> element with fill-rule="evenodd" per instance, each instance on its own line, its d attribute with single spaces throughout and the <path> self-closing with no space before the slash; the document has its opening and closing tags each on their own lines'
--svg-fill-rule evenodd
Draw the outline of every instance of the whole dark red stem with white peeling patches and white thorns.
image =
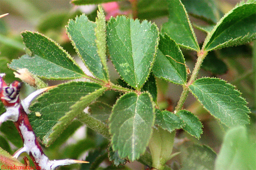
<svg viewBox="0 0 256 170">
<path fill-rule="evenodd" d="M 0 116 L 0 125 L 5 121 L 13 121 L 24 143 L 23 147 L 13 157 L 18 158 L 21 153 L 26 152 L 33 160 L 35 166 L 40 166 L 43 170 L 54 170 L 58 166 L 75 163 L 89 163 L 73 159 L 49 160 L 36 139 L 36 135 L 28 120 L 29 104 L 37 95 L 55 86 L 39 89 L 28 95 L 26 99 L 20 101 L 20 82 L 14 81 L 8 86 L 3 79 L 4 76 L 4 73 L 0 73 L 0 99 L 6 108 L 6 112 Z"/>
</svg>

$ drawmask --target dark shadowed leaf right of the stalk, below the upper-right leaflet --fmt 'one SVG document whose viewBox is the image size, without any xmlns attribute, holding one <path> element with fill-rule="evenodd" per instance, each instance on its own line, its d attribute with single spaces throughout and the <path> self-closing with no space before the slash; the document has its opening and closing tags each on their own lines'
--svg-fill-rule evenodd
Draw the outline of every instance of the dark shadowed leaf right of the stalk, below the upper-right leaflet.
<svg viewBox="0 0 256 170">
<path fill-rule="evenodd" d="M 210 71 L 213 74 L 225 74 L 228 71 L 227 65 L 217 58 L 214 51 L 210 51 L 201 66 L 204 70 Z"/>
</svg>

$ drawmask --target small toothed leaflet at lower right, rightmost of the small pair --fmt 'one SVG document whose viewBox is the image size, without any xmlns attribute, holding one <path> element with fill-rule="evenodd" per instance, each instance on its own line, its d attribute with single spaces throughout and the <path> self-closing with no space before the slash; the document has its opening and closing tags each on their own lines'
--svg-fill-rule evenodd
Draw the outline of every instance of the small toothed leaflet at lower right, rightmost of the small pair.
<svg viewBox="0 0 256 170">
<path fill-rule="evenodd" d="M 187 110 L 180 110 L 176 115 L 180 116 L 180 119 L 184 121 L 182 129 L 188 132 L 189 135 L 199 139 L 203 133 L 203 125 L 199 119 Z"/>
</svg>

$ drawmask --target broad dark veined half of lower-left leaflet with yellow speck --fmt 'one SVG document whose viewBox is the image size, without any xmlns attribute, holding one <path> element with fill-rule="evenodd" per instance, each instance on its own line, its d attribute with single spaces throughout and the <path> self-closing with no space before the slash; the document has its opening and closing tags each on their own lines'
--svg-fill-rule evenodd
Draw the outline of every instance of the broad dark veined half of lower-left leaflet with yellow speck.
<svg viewBox="0 0 256 170">
<path fill-rule="evenodd" d="M 48 144 L 52 127 L 58 123 L 61 117 L 72 110 L 70 107 L 81 97 L 100 88 L 101 86 L 96 83 L 69 82 L 58 85 L 38 97 L 37 101 L 30 106 L 31 113 L 28 115 L 36 136 L 40 137 L 44 144 Z M 39 112 L 41 116 L 37 117 L 36 112 Z"/>
</svg>

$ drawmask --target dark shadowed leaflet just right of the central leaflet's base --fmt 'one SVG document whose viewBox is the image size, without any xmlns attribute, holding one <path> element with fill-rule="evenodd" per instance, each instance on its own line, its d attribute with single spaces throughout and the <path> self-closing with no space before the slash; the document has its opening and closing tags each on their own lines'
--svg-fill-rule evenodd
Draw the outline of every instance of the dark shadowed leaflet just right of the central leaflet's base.
<svg viewBox="0 0 256 170">
<path fill-rule="evenodd" d="M 151 94 L 153 101 L 156 102 L 156 100 L 157 100 L 156 79 L 152 73 L 149 75 L 148 80 L 143 85 L 141 91 L 142 92 L 148 91 Z"/>
</svg>

